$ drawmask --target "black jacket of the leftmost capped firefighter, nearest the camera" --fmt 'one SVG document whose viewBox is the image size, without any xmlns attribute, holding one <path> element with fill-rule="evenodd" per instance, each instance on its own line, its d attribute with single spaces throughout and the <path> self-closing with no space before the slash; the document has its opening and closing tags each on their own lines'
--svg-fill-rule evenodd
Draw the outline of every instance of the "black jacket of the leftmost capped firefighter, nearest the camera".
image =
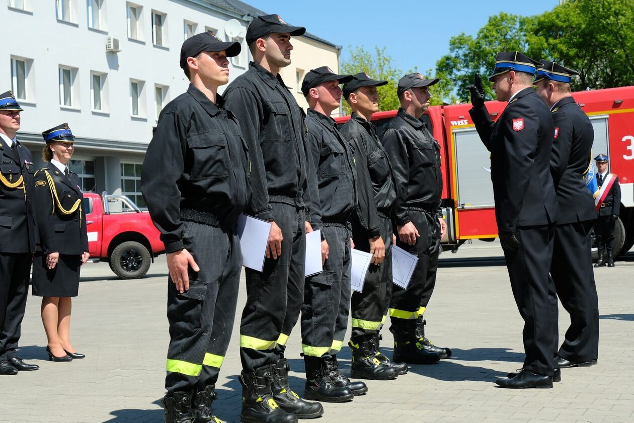
<svg viewBox="0 0 634 423">
<path fill-rule="evenodd" d="M 165 251 L 183 249 L 183 221 L 231 228 L 251 198 L 249 148 L 236 117 L 190 84 L 159 116 L 141 192 Z"/>
</svg>

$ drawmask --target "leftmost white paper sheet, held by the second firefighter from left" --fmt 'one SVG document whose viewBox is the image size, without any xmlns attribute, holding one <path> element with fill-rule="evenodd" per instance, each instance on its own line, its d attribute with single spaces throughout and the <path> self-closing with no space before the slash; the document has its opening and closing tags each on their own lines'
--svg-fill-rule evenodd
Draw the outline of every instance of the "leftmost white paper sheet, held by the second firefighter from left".
<svg viewBox="0 0 634 423">
<path fill-rule="evenodd" d="M 238 237 L 240 237 L 243 266 L 262 271 L 270 231 L 271 222 L 246 214 L 238 216 Z"/>
</svg>

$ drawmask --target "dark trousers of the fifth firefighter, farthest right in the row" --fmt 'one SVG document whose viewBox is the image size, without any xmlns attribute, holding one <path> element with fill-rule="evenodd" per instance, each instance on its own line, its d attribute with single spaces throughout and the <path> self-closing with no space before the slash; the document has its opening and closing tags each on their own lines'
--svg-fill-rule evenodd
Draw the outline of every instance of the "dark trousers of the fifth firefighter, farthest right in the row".
<svg viewBox="0 0 634 423">
<path fill-rule="evenodd" d="M 402 242 L 396 235 L 396 245 L 418 257 L 407 289 L 394 286 L 390 302 L 392 326 L 403 325 L 406 320 L 416 320 L 427 308 L 436 286 L 436 271 L 440 253 L 440 223 L 435 213 L 423 209 L 409 209 L 411 223 L 416 226 L 418 238 L 415 245 Z"/>
</svg>

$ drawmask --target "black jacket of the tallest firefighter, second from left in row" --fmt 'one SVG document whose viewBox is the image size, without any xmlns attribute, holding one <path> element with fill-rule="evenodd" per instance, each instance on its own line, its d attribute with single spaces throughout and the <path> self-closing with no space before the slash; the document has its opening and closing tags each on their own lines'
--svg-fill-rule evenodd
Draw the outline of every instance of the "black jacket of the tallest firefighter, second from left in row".
<svg viewBox="0 0 634 423">
<path fill-rule="evenodd" d="M 249 145 L 253 198 L 250 212 L 272 220 L 271 202 L 298 207 L 309 204 L 309 181 L 304 142 L 304 112 L 280 75 L 251 62 L 224 91 L 227 107 Z M 311 188 L 316 192 L 316 186 Z"/>
</svg>

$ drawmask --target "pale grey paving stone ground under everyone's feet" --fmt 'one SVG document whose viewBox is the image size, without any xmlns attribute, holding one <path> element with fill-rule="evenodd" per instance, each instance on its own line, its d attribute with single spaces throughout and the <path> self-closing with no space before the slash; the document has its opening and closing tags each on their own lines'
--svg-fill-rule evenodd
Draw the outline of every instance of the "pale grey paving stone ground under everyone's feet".
<svg viewBox="0 0 634 423">
<path fill-rule="evenodd" d="M 634 421 L 634 252 L 614 269 L 595 271 L 600 301 L 598 365 L 562 370 L 553 389 L 507 390 L 493 382 L 521 367 L 522 322 L 499 244 L 475 242 L 444 252 L 425 313 L 427 334 L 449 346 L 450 360 L 413 366 L 395 381 L 366 381 L 370 392 L 352 403 L 324 404 L 319 423 L 342 422 L 632 422 Z M 40 301 L 29 297 L 20 356 L 36 372 L 0 377 L 1 422 L 160 422 L 167 319 L 165 256 L 141 280 L 117 280 L 105 263 L 82 270 L 73 300 L 72 341 L 86 359 L 46 361 Z M 216 414 L 238 422 L 241 405 L 238 323 L 217 384 Z M 560 335 L 567 314 L 560 310 Z M 349 334 L 349 331 L 348 331 Z M 383 331 L 384 352 L 392 336 Z M 303 389 L 299 328 L 288 341 L 291 386 Z M 350 351 L 340 354 L 349 372 Z"/>
</svg>

